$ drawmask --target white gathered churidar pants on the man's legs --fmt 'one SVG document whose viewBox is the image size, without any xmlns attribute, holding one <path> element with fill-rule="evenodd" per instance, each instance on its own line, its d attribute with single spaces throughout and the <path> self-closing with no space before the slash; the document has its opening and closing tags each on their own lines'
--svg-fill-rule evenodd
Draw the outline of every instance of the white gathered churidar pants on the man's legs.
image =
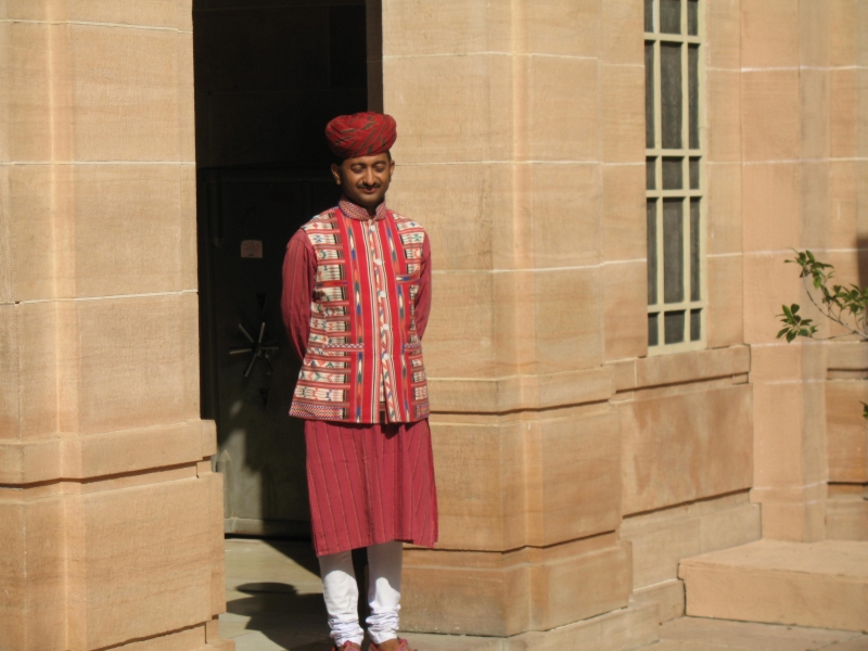
<svg viewBox="0 0 868 651">
<path fill-rule="evenodd" d="M 403 544 L 395 540 L 368 548 L 368 635 L 375 644 L 398 637 L 403 551 Z M 365 631 L 359 625 L 359 589 L 352 552 L 319 557 L 319 567 L 334 643 L 339 648 L 347 641 L 360 644 Z"/>
</svg>

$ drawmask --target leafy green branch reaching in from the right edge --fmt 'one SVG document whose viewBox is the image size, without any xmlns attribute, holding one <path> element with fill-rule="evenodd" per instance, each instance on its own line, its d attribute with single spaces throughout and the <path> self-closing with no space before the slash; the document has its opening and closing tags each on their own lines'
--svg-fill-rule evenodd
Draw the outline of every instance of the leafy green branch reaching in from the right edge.
<svg viewBox="0 0 868 651">
<path fill-rule="evenodd" d="M 795 258 L 786 260 L 788 264 L 799 265 L 801 271 L 799 277 L 805 283 L 808 298 L 819 312 L 834 321 L 847 332 L 843 335 L 855 334 L 856 336 L 868 340 L 868 288 L 859 288 L 855 284 L 842 285 L 834 283 L 834 267 L 821 263 L 809 251 L 795 251 Z M 819 299 L 818 299 L 819 298 Z M 786 339 L 792 342 L 799 336 L 815 339 L 817 326 L 813 319 L 806 319 L 799 314 L 800 306 L 782 305 L 782 314 L 777 315 L 783 328 L 778 332 L 777 339 Z M 835 339 L 830 336 L 827 339 Z M 863 416 L 868 419 L 868 404 L 863 403 Z"/>
</svg>

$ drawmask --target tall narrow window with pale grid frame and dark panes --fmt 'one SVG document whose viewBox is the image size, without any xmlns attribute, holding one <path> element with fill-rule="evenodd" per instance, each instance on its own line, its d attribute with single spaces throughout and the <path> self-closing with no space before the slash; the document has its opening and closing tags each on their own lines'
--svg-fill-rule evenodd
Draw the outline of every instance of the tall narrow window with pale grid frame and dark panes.
<svg viewBox="0 0 868 651">
<path fill-rule="evenodd" d="M 678 14 L 680 31 L 678 34 L 664 33 L 661 29 L 661 11 L 663 8 L 672 9 L 676 4 L 680 12 Z M 648 124 L 646 126 L 649 355 L 703 349 L 707 342 L 705 237 L 707 213 L 705 106 L 707 98 L 704 93 L 706 88 L 703 62 L 704 10 L 705 0 L 644 0 L 647 118 L 653 111 L 652 129 L 648 128 Z M 676 14 L 668 13 L 667 15 Z M 649 27 L 652 29 L 648 30 Z M 679 52 L 681 95 L 679 146 L 673 146 L 671 143 L 663 146 L 661 55 L 663 48 L 668 48 L 668 52 L 673 52 L 677 48 Z M 653 89 L 653 94 L 649 94 L 648 89 Z M 694 91 L 692 103 L 691 90 Z M 671 111 L 672 106 L 669 106 Z M 669 139 L 674 132 L 667 131 Z M 664 164 L 666 165 L 665 173 Z M 673 173 L 675 174 L 673 175 Z M 673 188 L 677 183 L 678 177 L 681 180 L 680 188 Z M 669 179 L 668 184 L 664 182 L 666 178 Z M 667 218 L 664 215 L 664 206 L 674 207 L 677 205 L 676 202 L 680 202 L 681 205 L 680 229 L 674 231 L 666 229 Z M 677 210 L 671 217 L 675 217 L 675 221 L 677 221 Z M 667 250 L 668 257 L 672 259 L 673 251 L 679 248 L 677 246 L 678 238 L 666 238 L 668 232 L 679 232 L 680 237 L 680 294 L 677 290 L 677 282 L 667 283 L 667 269 L 671 271 L 672 280 L 678 278 L 677 265 L 666 267 Z M 667 242 L 669 246 L 667 246 Z M 671 291 L 669 296 L 667 296 L 667 289 Z M 679 314 L 682 315 L 684 323 L 684 336 L 680 340 L 677 337 Z M 656 340 L 654 339 L 655 333 Z M 671 340 L 668 342 L 667 335 Z"/>
</svg>

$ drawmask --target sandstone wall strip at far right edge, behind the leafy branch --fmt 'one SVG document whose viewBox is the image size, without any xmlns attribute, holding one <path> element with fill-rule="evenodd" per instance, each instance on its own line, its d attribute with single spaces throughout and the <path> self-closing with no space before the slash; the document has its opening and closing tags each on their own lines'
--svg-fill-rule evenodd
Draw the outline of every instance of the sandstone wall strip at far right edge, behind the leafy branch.
<svg viewBox="0 0 868 651">
<path fill-rule="evenodd" d="M 829 257 L 847 281 L 868 285 L 868 3 L 829 7 Z M 855 253 L 852 250 L 856 250 Z M 826 385 L 827 536 L 868 540 L 868 345 L 829 346 Z"/>
</svg>

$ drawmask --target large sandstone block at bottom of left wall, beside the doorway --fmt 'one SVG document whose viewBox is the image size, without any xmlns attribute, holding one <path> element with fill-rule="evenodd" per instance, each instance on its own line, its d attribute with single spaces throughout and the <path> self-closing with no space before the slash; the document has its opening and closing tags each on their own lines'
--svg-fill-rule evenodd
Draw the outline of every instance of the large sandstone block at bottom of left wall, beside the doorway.
<svg viewBox="0 0 868 651">
<path fill-rule="evenodd" d="M 69 567 L 74 644 L 98 649 L 210 618 L 206 482 L 100 493 L 82 498 L 77 511 L 84 520 Z"/>
</svg>

